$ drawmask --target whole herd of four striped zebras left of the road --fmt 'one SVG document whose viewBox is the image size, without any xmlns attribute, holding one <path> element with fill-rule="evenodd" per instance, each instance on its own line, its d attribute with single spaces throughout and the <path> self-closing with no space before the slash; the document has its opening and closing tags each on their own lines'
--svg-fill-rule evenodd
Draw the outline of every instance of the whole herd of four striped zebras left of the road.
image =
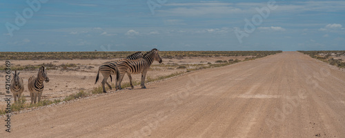
<svg viewBox="0 0 345 138">
<path fill-rule="evenodd" d="M 101 66 L 99 66 L 95 84 L 99 79 L 99 72 L 101 72 L 101 75 L 103 76 L 103 80 L 101 81 L 103 92 L 106 92 L 106 88 L 104 86 L 105 84 L 107 84 L 110 90 L 112 90 L 107 80 L 108 77 L 110 77 L 110 81 L 112 81 L 112 75 L 116 75 L 115 89 L 121 90 L 121 81 L 124 78 L 124 75 L 127 74 L 128 78 L 130 79 L 130 86 L 131 88 L 134 88 L 132 85 L 131 74 L 141 73 L 141 88 L 146 88 L 146 73 L 148 72 L 152 62 L 162 62 L 158 52 L 159 50 L 153 48 L 144 55 L 142 52 L 135 52 L 134 54 L 126 57 L 126 59 L 102 63 Z M 20 72 L 17 73 L 17 70 L 15 70 L 12 73 L 13 78 L 11 80 L 10 89 L 14 97 L 14 101 L 17 101 L 17 99 L 20 99 L 21 94 L 24 91 L 24 83 L 23 79 L 19 77 Z M 49 78 L 47 77 L 46 68 L 41 66 L 39 68 L 37 77 L 34 77 L 33 75 L 28 79 L 28 90 L 30 93 L 31 103 L 36 103 L 37 98 L 38 102 L 41 101 L 41 95 L 44 89 L 43 81 L 49 82 Z"/>
</svg>

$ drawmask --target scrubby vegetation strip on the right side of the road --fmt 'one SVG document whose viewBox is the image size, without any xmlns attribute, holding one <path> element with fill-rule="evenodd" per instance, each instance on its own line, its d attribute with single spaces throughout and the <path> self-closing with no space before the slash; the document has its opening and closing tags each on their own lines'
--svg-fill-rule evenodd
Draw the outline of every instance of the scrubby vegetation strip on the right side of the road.
<svg viewBox="0 0 345 138">
<path fill-rule="evenodd" d="M 339 68 L 345 68 L 345 50 L 342 51 L 298 51 Z"/>
</svg>

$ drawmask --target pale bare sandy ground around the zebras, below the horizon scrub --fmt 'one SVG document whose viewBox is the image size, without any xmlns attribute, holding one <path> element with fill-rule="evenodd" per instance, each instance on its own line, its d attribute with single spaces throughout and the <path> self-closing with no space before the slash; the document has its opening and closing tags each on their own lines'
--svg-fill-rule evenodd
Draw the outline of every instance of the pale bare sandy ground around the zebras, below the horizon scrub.
<svg viewBox="0 0 345 138">
<path fill-rule="evenodd" d="M 239 59 L 244 60 L 246 57 L 184 57 L 184 59 L 163 59 L 163 63 L 165 64 L 172 64 L 177 63 L 181 64 L 196 64 L 196 63 L 203 63 L 206 64 L 208 62 L 215 63 L 217 60 L 228 60 L 228 59 Z M 113 59 L 118 60 L 118 59 Z M 44 83 L 44 91 L 42 95 L 42 99 L 61 99 L 63 100 L 66 96 L 71 95 L 72 93 L 79 92 L 80 90 L 90 90 L 97 86 L 101 85 L 101 80 L 103 76 L 100 75 L 100 81 L 95 85 L 96 75 L 99 66 L 101 63 L 106 61 L 110 61 L 109 59 L 74 59 L 74 60 L 12 60 L 11 66 L 27 66 L 27 65 L 39 65 L 39 64 L 47 64 L 53 63 L 56 66 L 60 66 L 61 64 L 69 64 L 74 63 L 77 64 L 77 67 L 68 68 L 67 70 L 47 70 L 47 75 L 50 78 L 49 83 Z M 1 66 L 5 66 L 5 61 L 0 61 L 2 63 Z M 159 64 L 157 61 L 153 63 L 153 65 Z M 182 72 L 186 69 L 173 69 L 170 70 L 168 68 L 158 68 L 155 67 L 154 70 L 148 71 L 147 77 L 155 78 L 157 76 L 163 75 L 170 75 L 175 72 Z M 20 76 L 23 78 L 25 90 L 23 92 L 23 96 L 26 97 L 26 101 L 30 103 L 29 91 L 28 91 L 28 78 L 32 75 L 37 75 L 37 70 L 22 70 Z M 133 81 L 140 81 L 141 75 L 132 75 Z M 110 78 L 108 79 L 110 82 Z M 128 82 L 128 77 L 124 77 L 124 83 Z M 115 82 L 115 76 L 113 76 L 113 82 Z M 0 74 L 0 90 L 5 90 L 5 73 L 1 72 Z M 6 107 L 6 102 L 4 101 L 5 92 L 0 92 L 0 109 Z M 11 93 L 12 95 L 12 93 Z"/>
</svg>

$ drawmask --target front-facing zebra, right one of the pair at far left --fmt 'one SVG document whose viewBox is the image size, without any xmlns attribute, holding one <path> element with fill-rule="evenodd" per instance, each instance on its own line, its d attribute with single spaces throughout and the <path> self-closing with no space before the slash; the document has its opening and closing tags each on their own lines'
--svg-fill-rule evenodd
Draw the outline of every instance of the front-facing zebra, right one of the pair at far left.
<svg viewBox="0 0 345 138">
<path fill-rule="evenodd" d="M 32 102 L 36 103 L 37 96 L 39 97 L 39 101 L 41 101 L 41 95 L 44 88 L 43 81 L 49 82 L 45 69 L 46 68 L 43 66 L 39 67 L 37 77 L 32 75 L 32 77 L 28 79 L 28 90 L 30 92 L 31 104 Z"/>
</svg>

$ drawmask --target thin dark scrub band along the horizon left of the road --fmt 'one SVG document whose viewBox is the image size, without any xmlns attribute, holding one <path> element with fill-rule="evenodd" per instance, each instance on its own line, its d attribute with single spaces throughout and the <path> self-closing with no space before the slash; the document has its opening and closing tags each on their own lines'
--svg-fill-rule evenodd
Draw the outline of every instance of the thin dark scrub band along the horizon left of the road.
<svg viewBox="0 0 345 138">
<path fill-rule="evenodd" d="M 254 56 L 266 57 L 282 51 L 159 51 L 165 59 L 184 57 Z M 0 52 L 0 60 L 43 60 L 43 59 L 115 59 L 126 58 L 133 51 L 116 52 Z"/>
</svg>

